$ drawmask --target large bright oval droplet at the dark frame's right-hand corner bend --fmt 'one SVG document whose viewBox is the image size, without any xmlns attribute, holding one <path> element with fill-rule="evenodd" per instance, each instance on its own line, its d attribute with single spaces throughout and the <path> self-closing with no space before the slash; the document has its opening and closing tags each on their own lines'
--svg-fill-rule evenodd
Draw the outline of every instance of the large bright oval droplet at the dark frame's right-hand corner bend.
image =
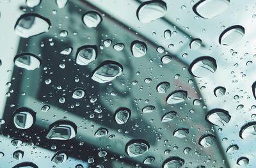
<svg viewBox="0 0 256 168">
<path fill-rule="evenodd" d="M 195 59 L 189 66 L 189 73 L 195 77 L 207 77 L 216 72 L 217 64 L 213 57 L 203 56 Z"/>
</svg>

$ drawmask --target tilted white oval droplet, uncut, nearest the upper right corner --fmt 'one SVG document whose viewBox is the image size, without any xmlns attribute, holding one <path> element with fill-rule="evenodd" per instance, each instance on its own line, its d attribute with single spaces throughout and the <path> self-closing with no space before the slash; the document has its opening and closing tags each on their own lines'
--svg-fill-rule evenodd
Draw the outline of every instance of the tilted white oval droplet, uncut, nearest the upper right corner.
<svg viewBox="0 0 256 168">
<path fill-rule="evenodd" d="M 228 27 L 220 34 L 219 43 L 221 45 L 233 45 L 243 38 L 244 32 L 244 27 L 240 25 Z"/>
</svg>

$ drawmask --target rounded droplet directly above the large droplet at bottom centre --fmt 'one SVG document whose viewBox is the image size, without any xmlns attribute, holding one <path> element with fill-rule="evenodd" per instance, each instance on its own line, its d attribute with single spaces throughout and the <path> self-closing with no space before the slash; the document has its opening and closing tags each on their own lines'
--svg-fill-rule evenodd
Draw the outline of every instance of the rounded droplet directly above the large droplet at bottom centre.
<svg viewBox="0 0 256 168">
<path fill-rule="evenodd" d="M 125 107 L 121 107 L 115 112 L 116 123 L 122 125 L 128 121 L 131 116 L 131 110 Z"/>
</svg>

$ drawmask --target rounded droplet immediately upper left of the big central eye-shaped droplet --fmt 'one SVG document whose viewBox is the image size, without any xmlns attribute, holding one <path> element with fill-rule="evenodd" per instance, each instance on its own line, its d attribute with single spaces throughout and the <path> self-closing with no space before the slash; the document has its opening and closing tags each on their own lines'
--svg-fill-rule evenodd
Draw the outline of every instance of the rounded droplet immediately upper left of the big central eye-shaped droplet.
<svg viewBox="0 0 256 168">
<path fill-rule="evenodd" d="M 78 65 L 88 65 L 92 63 L 97 57 L 97 46 L 96 45 L 84 45 L 77 49 L 76 52 L 76 63 Z"/>
</svg>

